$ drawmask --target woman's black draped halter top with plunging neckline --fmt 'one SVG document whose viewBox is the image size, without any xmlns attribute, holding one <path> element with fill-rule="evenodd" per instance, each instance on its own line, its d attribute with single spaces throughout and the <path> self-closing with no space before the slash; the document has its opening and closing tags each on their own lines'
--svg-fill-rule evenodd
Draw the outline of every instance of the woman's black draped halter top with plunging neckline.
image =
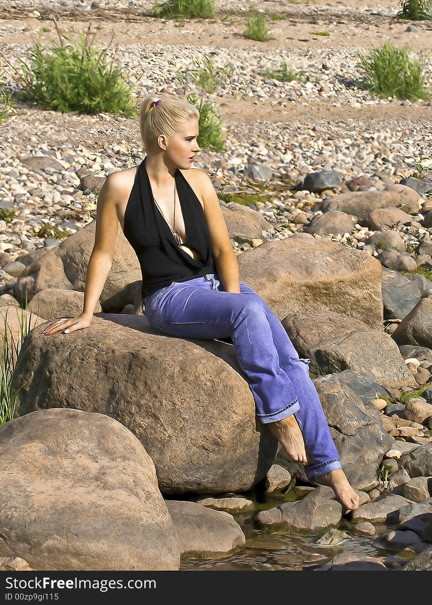
<svg viewBox="0 0 432 605">
<path fill-rule="evenodd" d="M 184 246 L 196 250 L 202 261 L 192 258 L 176 243 L 169 224 L 154 201 L 144 158 L 135 174 L 123 226 L 124 237 L 140 262 L 143 300 L 173 281 L 192 280 L 215 272 L 210 234 L 201 203 L 178 168 L 174 178 L 185 226 Z"/>
</svg>

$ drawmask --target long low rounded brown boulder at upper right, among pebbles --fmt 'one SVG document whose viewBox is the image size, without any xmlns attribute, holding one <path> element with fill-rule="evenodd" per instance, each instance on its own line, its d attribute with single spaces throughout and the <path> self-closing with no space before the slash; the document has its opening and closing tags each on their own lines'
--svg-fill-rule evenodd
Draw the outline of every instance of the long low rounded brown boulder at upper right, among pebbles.
<svg viewBox="0 0 432 605">
<path fill-rule="evenodd" d="M 384 191 L 353 191 L 334 195 L 326 200 L 321 210 L 338 210 L 353 214 L 361 225 L 367 226 L 367 217 L 376 208 L 401 208 L 409 214 L 417 214 L 421 198 L 405 185 L 387 185 Z"/>
</svg>

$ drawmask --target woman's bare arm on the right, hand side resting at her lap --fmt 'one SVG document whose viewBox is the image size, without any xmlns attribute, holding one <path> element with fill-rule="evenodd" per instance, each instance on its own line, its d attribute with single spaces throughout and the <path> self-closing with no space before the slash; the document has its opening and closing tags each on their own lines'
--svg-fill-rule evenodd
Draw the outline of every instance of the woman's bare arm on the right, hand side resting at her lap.
<svg viewBox="0 0 432 605">
<path fill-rule="evenodd" d="M 228 233 L 227 223 L 222 214 L 218 194 L 214 190 L 213 183 L 207 172 L 195 169 L 199 172 L 199 189 L 204 201 L 204 216 L 210 233 L 211 248 L 213 250 L 214 264 L 221 276 L 225 292 L 240 294 L 240 269 L 237 257 Z"/>
</svg>

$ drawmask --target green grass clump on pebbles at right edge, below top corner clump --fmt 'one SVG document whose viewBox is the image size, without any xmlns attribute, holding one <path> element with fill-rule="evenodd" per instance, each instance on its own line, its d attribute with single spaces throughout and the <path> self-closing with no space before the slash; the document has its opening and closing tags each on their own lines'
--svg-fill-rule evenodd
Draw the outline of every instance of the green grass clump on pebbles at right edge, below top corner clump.
<svg viewBox="0 0 432 605">
<path fill-rule="evenodd" d="M 395 99 L 428 99 L 430 89 L 425 83 L 425 60 L 411 56 L 409 47 L 396 48 L 390 42 L 372 47 L 368 56 L 359 53 L 365 83 L 377 97 Z"/>
</svg>

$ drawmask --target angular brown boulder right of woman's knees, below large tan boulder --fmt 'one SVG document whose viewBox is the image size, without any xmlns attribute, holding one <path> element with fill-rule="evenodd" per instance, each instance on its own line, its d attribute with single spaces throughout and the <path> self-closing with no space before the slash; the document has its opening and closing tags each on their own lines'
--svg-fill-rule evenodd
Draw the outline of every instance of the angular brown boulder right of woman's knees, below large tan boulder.
<svg viewBox="0 0 432 605">
<path fill-rule="evenodd" d="M 416 385 L 391 336 L 358 319 L 321 310 L 291 313 L 282 325 L 315 374 L 354 370 L 390 387 Z"/>
</svg>

